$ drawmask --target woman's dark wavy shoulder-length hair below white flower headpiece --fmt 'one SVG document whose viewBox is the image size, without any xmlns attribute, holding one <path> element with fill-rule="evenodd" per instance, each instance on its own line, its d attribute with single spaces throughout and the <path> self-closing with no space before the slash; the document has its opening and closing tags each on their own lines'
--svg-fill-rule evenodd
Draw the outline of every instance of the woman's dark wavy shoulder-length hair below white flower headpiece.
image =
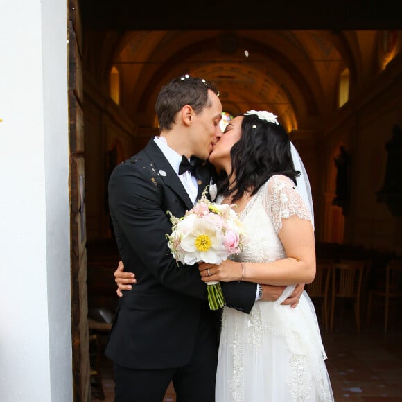
<svg viewBox="0 0 402 402">
<path fill-rule="evenodd" d="M 296 184 L 300 172 L 293 165 L 290 139 L 281 124 L 250 114 L 243 117 L 241 132 L 241 139 L 230 150 L 231 174 L 220 175 L 220 193 L 234 202 L 247 190 L 252 189 L 254 195 L 273 175 L 285 175 Z"/>
</svg>

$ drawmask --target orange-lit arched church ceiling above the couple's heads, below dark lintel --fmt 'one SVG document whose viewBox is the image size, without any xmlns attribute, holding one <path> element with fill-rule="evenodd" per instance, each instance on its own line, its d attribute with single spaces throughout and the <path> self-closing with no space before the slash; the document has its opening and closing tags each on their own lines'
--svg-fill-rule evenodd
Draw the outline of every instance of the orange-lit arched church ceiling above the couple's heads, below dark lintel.
<svg viewBox="0 0 402 402">
<path fill-rule="evenodd" d="M 110 33 L 112 35 L 112 33 Z M 100 52 L 103 77 L 121 76 L 121 107 L 139 125 L 155 121 L 161 85 L 184 73 L 211 80 L 225 110 L 266 109 L 289 131 L 319 125 L 336 109 L 340 73 L 357 73 L 376 52 L 373 31 L 151 30 L 130 31 Z M 107 35 L 105 35 L 105 38 Z M 367 37 L 367 43 L 365 38 Z M 357 44 L 357 46 L 356 46 Z M 363 46 L 364 45 L 364 46 Z"/>
</svg>

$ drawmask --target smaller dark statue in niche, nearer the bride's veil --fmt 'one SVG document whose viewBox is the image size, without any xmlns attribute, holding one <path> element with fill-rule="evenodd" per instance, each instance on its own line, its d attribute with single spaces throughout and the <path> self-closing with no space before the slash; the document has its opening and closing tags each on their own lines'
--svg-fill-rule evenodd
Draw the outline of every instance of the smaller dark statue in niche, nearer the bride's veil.
<svg viewBox="0 0 402 402">
<path fill-rule="evenodd" d="M 342 213 L 344 216 L 346 216 L 349 211 L 350 155 L 343 145 L 339 147 L 339 150 L 340 154 L 334 159 L 337 173 L 335 198 L 333 199 L 332 204 L 342 207 Z"/>
</svg>

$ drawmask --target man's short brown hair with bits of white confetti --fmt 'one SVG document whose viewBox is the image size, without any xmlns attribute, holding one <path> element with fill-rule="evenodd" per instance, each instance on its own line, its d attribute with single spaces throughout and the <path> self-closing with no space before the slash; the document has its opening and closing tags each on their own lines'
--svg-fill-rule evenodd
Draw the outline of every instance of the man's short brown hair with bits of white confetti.
<svg viewBox="0 0 402 402">
<path fill-rule="evenodd" d="M 177 112 L 185 105 L 193 107 L 195 114 L 200 114 L 204 107 L 210 107 L 208 89 L 219 95 L 218 89 L 212 82 L 189 75 L 175 78 L 164 85 L 155 104 L 159 132 L 171 130 Z"/>
</svg>

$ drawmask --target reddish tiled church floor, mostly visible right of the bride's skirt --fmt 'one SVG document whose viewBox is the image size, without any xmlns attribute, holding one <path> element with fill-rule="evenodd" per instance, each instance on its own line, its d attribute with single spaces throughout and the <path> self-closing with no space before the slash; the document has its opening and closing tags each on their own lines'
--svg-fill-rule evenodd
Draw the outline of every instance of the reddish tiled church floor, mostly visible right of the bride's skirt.
<svg viewBox="0 0 402 402">
<path fill-rule="evenodd" d="M 385 334 L 381 313 L 376 311 L 373 321 L 363 324 L 357 334 L 350 308 L 342 322 L 335 321 L 332 333 L 322 333 L 335 401 L 402 402 L 402 320 L 395 309 Z M 107 358 L 103 358 L 101 373 L 105 402 L 112 402 L 114 383 Z M 93 402 L 99 401 L 95 394 L 93 390 Z M 164 402 L 175 402 L 173 387 Z"/>
</svg>

